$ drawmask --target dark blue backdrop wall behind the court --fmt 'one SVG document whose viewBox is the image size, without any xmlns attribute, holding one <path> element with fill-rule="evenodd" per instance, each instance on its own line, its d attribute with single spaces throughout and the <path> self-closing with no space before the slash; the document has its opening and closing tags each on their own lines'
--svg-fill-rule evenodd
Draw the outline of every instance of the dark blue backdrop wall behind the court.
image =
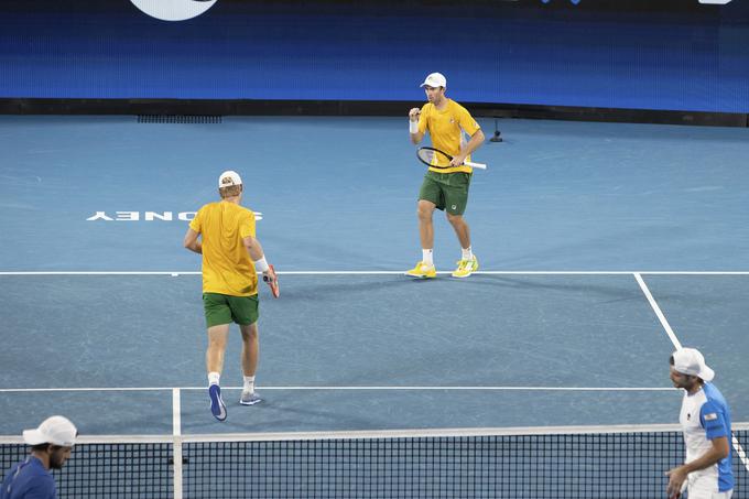
<svg viewBox="0 0 749 499">
<path fill-rule="evenodd" d="M 466 102 L 749 112 L 746 0 L 458 3 L 8 0 L 0 98 L 420 100 L 439 70 Z"/>
</svg>

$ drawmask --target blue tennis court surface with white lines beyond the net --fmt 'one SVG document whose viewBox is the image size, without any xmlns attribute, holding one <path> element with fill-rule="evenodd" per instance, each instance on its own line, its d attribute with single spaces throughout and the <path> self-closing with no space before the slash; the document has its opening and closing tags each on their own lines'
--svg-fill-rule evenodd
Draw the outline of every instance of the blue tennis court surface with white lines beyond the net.
<svg viewBox="0 0 749 499">
<path fill-rule="evenodd" d="M 499 126 L 466 213 L 481 272 L 449 276 L 437 213 L 443 273 L 413 281 L 405 118 L 1 117 L 0 434 L 51 413 L 87 435 L 675 423 L 677 344 L 749 421 L 749 129 Z M 261 290 L 264 401 L 238 404 L 232 332 L 218 423 L 182 237 L 228 169 L 282 289 Z"/>
</svg>

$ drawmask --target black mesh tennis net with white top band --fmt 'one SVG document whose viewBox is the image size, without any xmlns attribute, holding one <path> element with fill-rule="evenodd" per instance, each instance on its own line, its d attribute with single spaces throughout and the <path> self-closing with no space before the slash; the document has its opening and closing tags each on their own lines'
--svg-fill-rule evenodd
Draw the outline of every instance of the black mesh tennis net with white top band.
<svg viewBox="0 0 749 499">
<path fill-rule="evenodd" d="M 734 436 L 734 499 L 749 498 L 749 424 Z M 684 458 L 674 425 L 80 441 L 61 498 L 660 499 Z M 17 437 L 0 448 L 3 470 L 26 454 Z"/>
</svg>

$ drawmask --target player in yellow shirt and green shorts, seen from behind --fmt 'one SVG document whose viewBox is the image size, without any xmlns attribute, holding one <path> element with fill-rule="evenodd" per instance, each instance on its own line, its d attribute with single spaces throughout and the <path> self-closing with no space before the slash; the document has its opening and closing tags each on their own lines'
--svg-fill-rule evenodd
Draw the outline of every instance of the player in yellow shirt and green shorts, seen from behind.
<svg viewBox="0 0 749 499">
<path fill-rule="evenodd" d="M 209 203 L 197 211 L 184 240 L 185 248 L 203 254 L 208 395 L 210 412 L 218 421 L 227 416 L 219 378 L 231 323 L 237 323 L 242 334 L 245 384 L 239 402 L 253 405 L 261 400 L 254 391 L 259 355 L 257 271 L 263 273 L 271 286 L 276 283 L 275 272 L 256 239 L 254 213 L 241 206 L 242 192 L 242 180 L 237 172 L 221 173 L 218 178 L 221 200 Z"/>
</svg>

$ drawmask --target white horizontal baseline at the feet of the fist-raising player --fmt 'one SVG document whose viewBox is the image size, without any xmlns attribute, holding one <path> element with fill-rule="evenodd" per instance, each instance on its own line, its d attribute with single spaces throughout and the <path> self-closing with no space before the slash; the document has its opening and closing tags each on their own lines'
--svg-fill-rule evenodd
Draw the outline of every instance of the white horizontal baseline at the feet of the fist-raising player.
<svg viewBox="0 0 749 499">
<path fill-rule="evenodd" d="M 403 275 L 402 270 L 290 270 L 279 275 Z M 438 274 L 451 274 L 441 271 Z M 679 271 L 679 270 L 479 270 L 484 275 L 749 275 L 749 271 Z M 0 275 L 200 275 L 199 271 L 3 271 Z"/>
</svg>

